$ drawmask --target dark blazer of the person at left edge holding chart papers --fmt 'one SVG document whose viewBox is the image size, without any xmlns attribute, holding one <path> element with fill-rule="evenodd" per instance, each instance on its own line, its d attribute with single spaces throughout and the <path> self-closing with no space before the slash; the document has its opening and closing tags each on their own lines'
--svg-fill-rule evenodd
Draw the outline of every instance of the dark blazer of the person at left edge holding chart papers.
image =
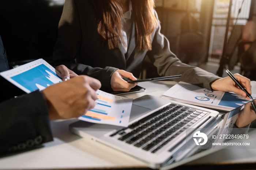
<svg viewBox="0 0 256 170">
<path fill-rule="evenodd" d="M 9 69 L 1 37 L 0 69 Z M 1 84 L 3 81 L 0 79 Z M 35 148 L 52 140 L 48 109 L 40 91 L 0 103 L 0 155 Z"/>
</svg>

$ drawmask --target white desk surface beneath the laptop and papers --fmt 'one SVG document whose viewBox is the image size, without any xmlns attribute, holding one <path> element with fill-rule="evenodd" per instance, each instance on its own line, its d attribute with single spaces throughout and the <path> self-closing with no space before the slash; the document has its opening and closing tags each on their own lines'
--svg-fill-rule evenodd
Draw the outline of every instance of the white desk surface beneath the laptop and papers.
<svg viewBox="0 0 256 170">
<path fill-rule="evenodd" d="M 160 96 L 176 82 L 142 82 L 139 86 L 146 91 L 122 95 L 138 98 L 149 94 Z M 256 93 L 256 82 L 252 82 L 252 92 Z M 45 143 L 35 150 L 0 158 L 0 169 L 94 169 L 94 168 L 132 168 L 147 165 L 131 156 L 125 155 L 104 145 L 95 144 L 69 132 L 68 125 L 77 121 L 56 120 L 51 122 L 54 141 Z M 222 150 L 197 159 L 188 165 L 206 163 L 251 163 L 256 162 L 256 149 Z"/>
</svg>

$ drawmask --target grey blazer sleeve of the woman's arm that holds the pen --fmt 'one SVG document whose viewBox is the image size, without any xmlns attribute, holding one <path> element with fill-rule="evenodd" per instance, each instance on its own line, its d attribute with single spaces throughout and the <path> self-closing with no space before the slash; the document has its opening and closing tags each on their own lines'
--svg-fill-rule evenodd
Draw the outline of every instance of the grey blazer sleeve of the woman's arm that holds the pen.
<svg viewBox="0 0 256 170">
<path fill-rule="evenodd" d="M 155 30 L 154 37 L 152 37 L 152 50 L 147 52 L 151 62 L 157 67 L 160 76 L 180 75 L 181 78 L 174 79 L 175 81 L 184 81 L 187 83 L 195 84 L 200 87 L 211 90 L 210 83 L 220 77 L 204 71 L 198 67 L 182 63 L 169 48 L 169 41 L 160 33 L 161 26 L 157 16 L 158 26 Z"/>
</svg>

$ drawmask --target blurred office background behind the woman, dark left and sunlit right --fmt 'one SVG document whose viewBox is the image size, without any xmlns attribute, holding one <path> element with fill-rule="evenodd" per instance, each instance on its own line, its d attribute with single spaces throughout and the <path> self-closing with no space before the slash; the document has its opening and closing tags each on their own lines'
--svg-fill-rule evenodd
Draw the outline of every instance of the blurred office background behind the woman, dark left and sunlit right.
<svg viewBox="0 0 256 170">
<path fill-rule="evenodd" d="M 65 0 L 0 1 L 0 35 L 11 65 L 38 58 L 51 63 L 64 3 Z M 219 76 L 226 76 L 223 70 L 230 69 L 256 79 L 254 40 L 242 39 L 248 21 L 256 22 L 255 0 L 155 0 L 155 9 L 161 32 L 181 61 Z M 251 46 L 249 52 L 243 49 L 244 44 Z M 157 76 L 146 58 L 141 78 Z"/>
</svg>

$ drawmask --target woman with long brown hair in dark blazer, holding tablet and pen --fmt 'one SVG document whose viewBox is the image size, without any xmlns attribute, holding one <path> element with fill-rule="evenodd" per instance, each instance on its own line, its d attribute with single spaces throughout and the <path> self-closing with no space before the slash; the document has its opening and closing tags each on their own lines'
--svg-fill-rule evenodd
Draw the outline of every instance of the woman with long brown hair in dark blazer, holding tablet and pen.
<svg viewBox="0 0 256 170">
<path fill-rule="evenodd" d="M 229 77 L 182 63 L 160 29 L 154 0 L 66 0 L 53 64 L 100 80 L 101 90 L 129 91 L 136 83 L 123 78 L 136 80 L 147 55 L 160 76 L 246 97 Z M 235 76 L 251 92 L 250 80 Z"/>
</svg>

